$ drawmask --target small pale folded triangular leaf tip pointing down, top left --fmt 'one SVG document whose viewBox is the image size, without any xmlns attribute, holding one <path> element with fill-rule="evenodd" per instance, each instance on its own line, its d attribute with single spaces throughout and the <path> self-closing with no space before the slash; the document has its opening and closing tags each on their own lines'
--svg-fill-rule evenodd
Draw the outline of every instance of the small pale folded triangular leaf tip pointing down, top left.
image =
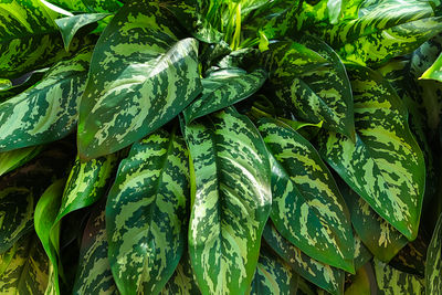
<svg viewBox="0 0 442 295">
<path fill-rule="evenodd" d="M 64 49 L 70 50 L 71 42 L 74 39 L 76 32 L 80 29 L 88 25 L 95 24 L 97 21 L 110 15 L 109 13 L 83 13 L 73 17 L 56 19 L 55 22 L 60 28 L 62 33 Z"/>
</svg>

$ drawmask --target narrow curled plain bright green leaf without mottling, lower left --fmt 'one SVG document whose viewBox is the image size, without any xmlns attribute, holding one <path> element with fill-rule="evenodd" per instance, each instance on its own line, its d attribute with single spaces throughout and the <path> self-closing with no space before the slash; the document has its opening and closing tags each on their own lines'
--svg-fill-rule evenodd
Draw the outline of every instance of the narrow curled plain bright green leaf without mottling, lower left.
<svg viewBox="0 0 442 295">
<path fill-rule="evenodd" d="M 34 226 L 44 251 L 51 262 L 49 287 L 60 294 L 59 286 L 59 253 L 60 253 L 60 223 L 55 221 L 59 212 L 65 179 L 51 185 L 40 198 L 35 207 Z M 50 293 L 50 294 L 54 294 Z"/>
</svg>

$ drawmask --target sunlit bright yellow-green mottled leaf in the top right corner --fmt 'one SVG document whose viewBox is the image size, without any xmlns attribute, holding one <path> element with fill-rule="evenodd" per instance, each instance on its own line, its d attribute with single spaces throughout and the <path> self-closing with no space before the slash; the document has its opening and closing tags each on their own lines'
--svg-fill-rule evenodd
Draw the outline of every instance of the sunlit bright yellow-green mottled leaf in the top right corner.
<svg viewBox="0 0 442 295">
<path fill-rule="evenodd" d="M 323 33 L 340 56 L 362 65 L 411 53 L 442 30 L 430 2 L 386 0 L 362 11 Z"/>
</svg>

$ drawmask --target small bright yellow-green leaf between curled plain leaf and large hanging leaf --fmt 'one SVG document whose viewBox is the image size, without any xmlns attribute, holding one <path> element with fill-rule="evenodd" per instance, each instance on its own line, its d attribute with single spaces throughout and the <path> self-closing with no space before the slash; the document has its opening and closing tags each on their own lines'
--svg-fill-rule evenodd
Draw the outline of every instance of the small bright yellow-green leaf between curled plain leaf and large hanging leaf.
<svg viewBox="0 0 442 295">
<path fill-rule="evenodd" d="M 93 204 L 102 198 L 117 161 L 118 156 L 116 154 L 85 162 L 77 157 L 63 191 L 56 221 L 74 210 Z"/>
</svg>

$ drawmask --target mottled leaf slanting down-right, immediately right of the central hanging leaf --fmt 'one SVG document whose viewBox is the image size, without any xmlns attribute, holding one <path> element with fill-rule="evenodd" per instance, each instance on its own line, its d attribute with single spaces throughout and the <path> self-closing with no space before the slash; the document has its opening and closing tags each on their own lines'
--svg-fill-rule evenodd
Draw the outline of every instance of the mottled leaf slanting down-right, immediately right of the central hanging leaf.
<svg viewBox="0 0 442 295">
<path fill-rule="evenodd" d="M 354 272 L 350 214 L 316 149 L 275 119 L 257 124 L 272 164 L 272 212 L 277 231 L 311 257 Z"/>
</svg>

